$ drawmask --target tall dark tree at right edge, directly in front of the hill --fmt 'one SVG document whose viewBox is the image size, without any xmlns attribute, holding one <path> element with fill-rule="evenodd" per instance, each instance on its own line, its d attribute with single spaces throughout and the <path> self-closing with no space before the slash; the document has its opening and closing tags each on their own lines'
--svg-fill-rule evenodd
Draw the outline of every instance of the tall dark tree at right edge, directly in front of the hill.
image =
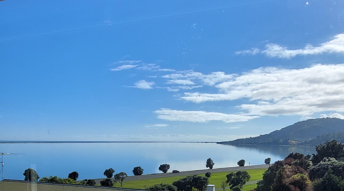
<svg viewBox="0 0 344 191">
<path fill-rule="evenodd" d="M 342 158 L 344 157 L 344 145 L 337 140 L 326 141 L 324 145 L 315 146 L 316 155 L 313 154 L 311 161 L 314 164 L 319 163 L 325 157 Z"/>
</svg>

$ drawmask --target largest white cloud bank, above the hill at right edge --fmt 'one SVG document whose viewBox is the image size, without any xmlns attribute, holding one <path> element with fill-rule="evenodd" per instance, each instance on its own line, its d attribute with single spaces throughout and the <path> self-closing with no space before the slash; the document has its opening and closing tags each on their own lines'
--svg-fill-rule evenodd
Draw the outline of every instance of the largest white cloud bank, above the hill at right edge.
<svg viewBox="0 0 344 191">
<path fill-rule="evenodd" d="M 313 65 L 301 69 L 262 67 L 215 85 L 219 92 L 184 93 L 194 103 L 239 100 L 249 115 L 301 115 L 344 112 L 344 64 Z"/>
</svg>

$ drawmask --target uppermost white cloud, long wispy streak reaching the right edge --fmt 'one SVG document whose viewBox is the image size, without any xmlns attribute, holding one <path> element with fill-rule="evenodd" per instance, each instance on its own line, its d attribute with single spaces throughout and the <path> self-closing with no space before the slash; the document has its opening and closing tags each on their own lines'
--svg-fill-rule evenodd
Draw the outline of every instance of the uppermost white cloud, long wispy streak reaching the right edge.
<svg viewBox="0 0 344 191">
<path fill-rule="evenodd" d="M 317 55 L 323 53 L 344 53 L 344 34 L 337 34 L 333 40 L 319 44 L 319 46 L 306 45 L 303 49 L 290 50 L 286 46 L 269 43 L 265 45 L 265 50 L 252 48 L 251 50 L 237 51 L 235 54 L 265 54 L 268 57 L 278 57 L 281 59 L 290 59 L 298 55 Z"/>
</svg>

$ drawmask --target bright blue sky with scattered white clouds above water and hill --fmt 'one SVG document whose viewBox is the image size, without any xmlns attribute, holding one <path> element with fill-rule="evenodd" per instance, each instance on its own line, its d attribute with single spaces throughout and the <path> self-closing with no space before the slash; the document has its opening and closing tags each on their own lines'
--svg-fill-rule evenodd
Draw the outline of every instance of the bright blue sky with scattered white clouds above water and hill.
<svg viewBox="0 0 344 191">
<path fill-rule="evenodd" d="M 1 1 L 0 139 L 227 141 L 344 118 L 343 6 Z"/>
</svg>

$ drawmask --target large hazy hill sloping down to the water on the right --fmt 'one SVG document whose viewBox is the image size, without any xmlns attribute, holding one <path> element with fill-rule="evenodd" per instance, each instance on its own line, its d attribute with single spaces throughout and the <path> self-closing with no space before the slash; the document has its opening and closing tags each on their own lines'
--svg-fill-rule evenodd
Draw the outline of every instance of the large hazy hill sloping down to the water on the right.
<svg viewBox="0 0 344 191">
<path fill-rule="evenodd" d="M 258 137 L 218 143 L 230 145 L 316 145 L 326 141 L 326 139 L 333 140 L 333 138 L 344 140 L 343 119 L 308 119 Z"/>
</svg>

